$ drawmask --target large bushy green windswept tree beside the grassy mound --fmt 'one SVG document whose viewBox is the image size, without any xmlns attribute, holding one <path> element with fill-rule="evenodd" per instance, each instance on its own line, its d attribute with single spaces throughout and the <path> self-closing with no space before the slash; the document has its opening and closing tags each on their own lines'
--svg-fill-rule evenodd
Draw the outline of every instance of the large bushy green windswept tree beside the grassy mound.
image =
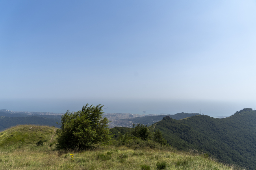
<svg viewBox="0 0 256 170">
<path fill-rule="evenodd" d="M 57 130 L 58 149 L 85 149 L 93 144 L 107 144 L 111 139 L 108 119 L 102 118 L 102 107 L 86 104 L 82 110 L 61 116 L 61 128 Z"/>
</svg>

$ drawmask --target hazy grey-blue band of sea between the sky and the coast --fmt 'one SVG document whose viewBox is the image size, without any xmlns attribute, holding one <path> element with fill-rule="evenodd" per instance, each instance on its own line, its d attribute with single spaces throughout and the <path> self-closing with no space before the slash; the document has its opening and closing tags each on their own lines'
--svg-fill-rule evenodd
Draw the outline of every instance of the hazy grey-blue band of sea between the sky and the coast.
<svg viewBox="0 0 256 170">
<path fill-rule="evenodd" d="M 230 116 L 243 108 L 254 110 L 256 102 L 223 102 L 199 100 L 106 100 L 106 99 L 0 99 L 0 109 L 24 112 L 65 113 L 81 110 L 86 103 L 104 105 L 105 113 L 176 114 L 199 113 Z M 144 111 L 144 112 L 143 112 Z"/>
</svg>

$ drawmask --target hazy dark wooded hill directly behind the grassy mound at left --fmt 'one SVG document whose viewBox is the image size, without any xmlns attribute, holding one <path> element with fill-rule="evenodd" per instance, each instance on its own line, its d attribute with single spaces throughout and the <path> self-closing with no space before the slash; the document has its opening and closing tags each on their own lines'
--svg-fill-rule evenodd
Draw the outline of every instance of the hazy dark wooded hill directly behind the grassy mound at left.
<svg viewBox="0 0 256 170">
<path fill-rule="evenodd" d="M 4 117 L 0 116 L 0 131 L 5 130 L 11 126 L 16 126 L 18 124 L 36 124 L 36 125 L 48 125 L 60 127 L 56 122 L 61 122 L 58 118 L 46 118 L 38 116 L 30 117 Z"/>
</svg>

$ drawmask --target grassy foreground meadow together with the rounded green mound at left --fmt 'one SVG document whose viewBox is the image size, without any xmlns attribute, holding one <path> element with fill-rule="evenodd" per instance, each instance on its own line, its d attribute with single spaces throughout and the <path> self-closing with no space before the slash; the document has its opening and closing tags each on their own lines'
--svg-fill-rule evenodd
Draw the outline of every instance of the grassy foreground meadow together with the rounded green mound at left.
<svg viewBox="0 0 256 170">
<path fill-rule="evenodd" d="M 3 170 L 234 170 L 207 155 L 166 149 L 98 146 L 82 152 L 56 150 L 56 128 L 19 125 L 0 132 Z M 37 146 L 38 141 L 43 146 Z M 73 158 L 71 158 L 74 154 Z"/>
</svg>

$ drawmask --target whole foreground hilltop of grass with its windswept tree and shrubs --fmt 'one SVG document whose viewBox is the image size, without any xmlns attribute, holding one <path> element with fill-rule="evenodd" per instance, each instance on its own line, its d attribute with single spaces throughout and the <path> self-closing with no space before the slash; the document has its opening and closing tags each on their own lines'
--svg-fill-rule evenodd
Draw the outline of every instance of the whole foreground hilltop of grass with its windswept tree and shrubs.
<svg viewBox="0 0 256 170">
<path fill-rule="evenodd" d="M 118 135 L 111 139 L 101 108 L 86 105 L 81 111 L 67 112 L 62 116 L 61 129 L 19 125 L 0 132 L 0 169 L 239 169 L 218 163 L 207 153 L 173 149 L 159 130 L 143 124 L 134 124 L 124 135 L 115 128 L 113 132 Z M 106 141 L 102 139 L 104 135 L 108 137 Z"/>
</svg>

